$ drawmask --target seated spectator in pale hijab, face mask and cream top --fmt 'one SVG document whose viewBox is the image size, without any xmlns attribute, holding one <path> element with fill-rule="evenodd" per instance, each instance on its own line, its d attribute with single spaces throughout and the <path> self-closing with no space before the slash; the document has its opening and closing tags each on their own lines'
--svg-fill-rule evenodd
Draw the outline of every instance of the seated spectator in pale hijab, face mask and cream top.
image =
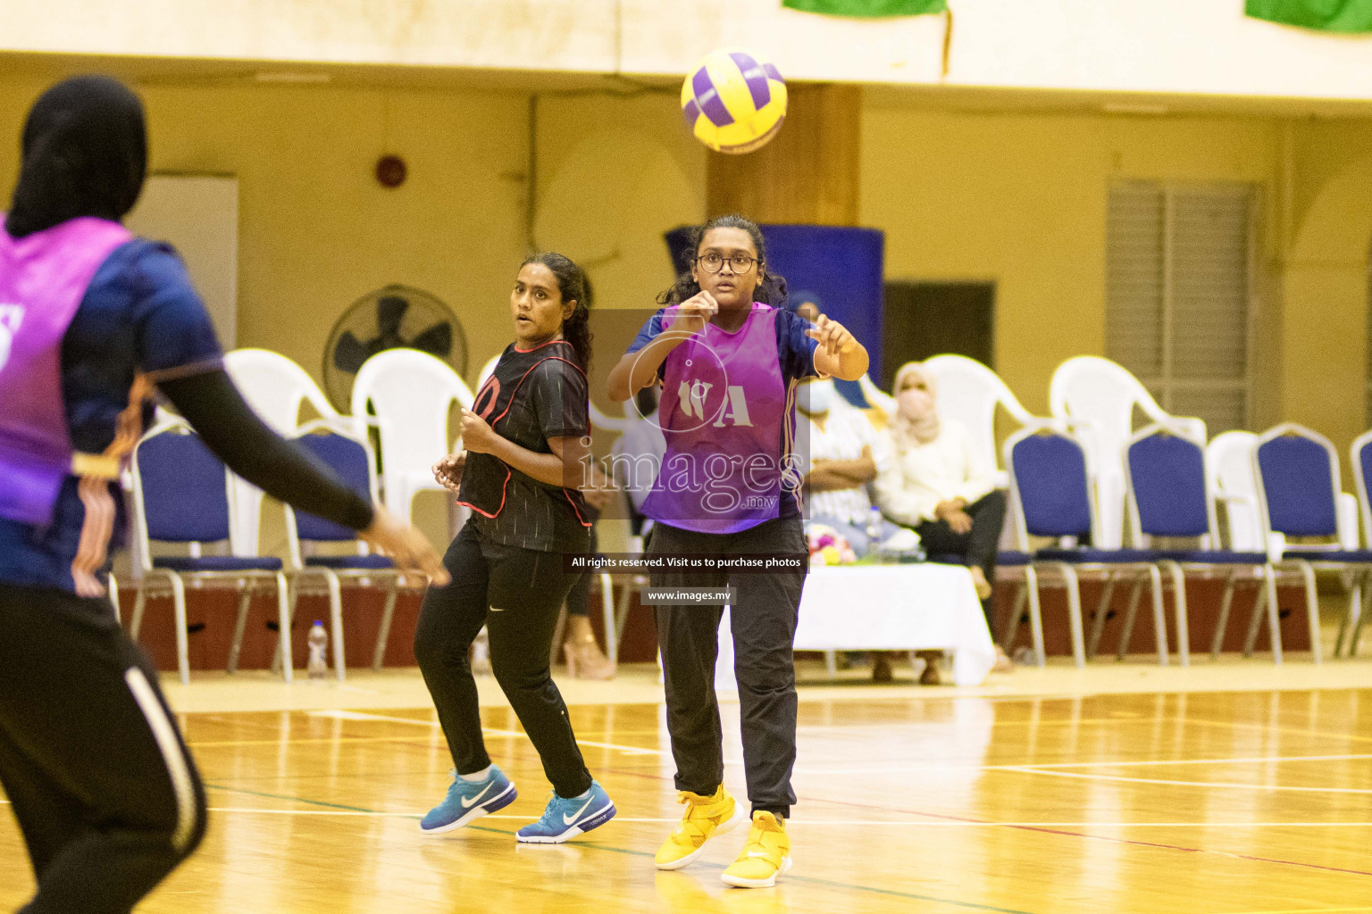
<svg viewBox="0 0 1372 914">
<path fill-rule="evenodd" d="M 930 556 L 963 560 L 989 626 L 996 543 L 1006 521 L 995 465 L 973 451 L 963 425 L 940 419 L 934 375 L 922 362 L 901 366 L 893 391 L 893 459 L 877 478 L 877 503 L 888 518 L 912 528 Z M 999 645 L 996 655 L 997 667 L 1008 665 Z"/>
</svg>

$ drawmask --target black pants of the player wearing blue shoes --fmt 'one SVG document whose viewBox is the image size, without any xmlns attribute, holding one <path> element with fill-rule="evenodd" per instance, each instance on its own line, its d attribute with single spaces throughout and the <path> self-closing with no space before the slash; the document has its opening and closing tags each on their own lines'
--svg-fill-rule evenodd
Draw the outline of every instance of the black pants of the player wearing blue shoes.
<svg viewBox="0 0 1372 914">
<path fill-rule="evenodd" d="M 491 763 L 482 739 L 482 714 L 468 650 L 486 626 L 491 671 L 543 761 L 558 796 L 580 796 L 591 785 L 576 745 L 549 656 L 553 629 L 576 574 L 563 571 L 561 552 L 484 543 L 468 523 L 443 565 L 447 586 L 431 586 L 414 633 L 414 658 L 424 673 L 453 765 L 460 774 Z"/>
</svg>

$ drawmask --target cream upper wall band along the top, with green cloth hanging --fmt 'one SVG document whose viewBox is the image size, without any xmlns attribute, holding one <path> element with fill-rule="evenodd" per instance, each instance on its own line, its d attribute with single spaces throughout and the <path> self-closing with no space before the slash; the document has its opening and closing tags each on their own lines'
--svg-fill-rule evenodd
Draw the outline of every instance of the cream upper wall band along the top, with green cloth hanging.
<svg viewBox="0 0 1372 914">
<path fill-rule="evenodd" d="M 44 0 L 0 4 L 0 48 L 313 64 L 683 74 L 744 45 L 790 79 L 1365 104 L 1369 38 L 1243 16 L 1242 0 L 955 0 L 862 21 L 778 0 Z M 272 69 L 272 64 L 265 64 Z"/>
</svg>

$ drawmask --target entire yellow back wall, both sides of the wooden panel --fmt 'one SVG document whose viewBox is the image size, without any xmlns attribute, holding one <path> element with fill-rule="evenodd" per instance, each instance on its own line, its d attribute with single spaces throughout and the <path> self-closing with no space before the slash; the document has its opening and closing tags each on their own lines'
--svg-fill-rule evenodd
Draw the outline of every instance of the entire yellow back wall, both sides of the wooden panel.
<svg viewBox="0 0 1372 914">
<path fill-rule="evenodd" d="M 0 78 L 0 186 L 41 85 Z M 158 170 L 232 173 L 240 344 L 320 373 L 329 329 L 387 282 L 461 317 L 468 380 L 509 341 L 506 292 L 528 238 L 528 95 L 344 86 L 152 85 Z M 704 153 L 671 93 L 543 95 L 534 241 L 583 262 L 604 308 L 649 307 L 661 232 L 698 219 Z M 997 284 L 996 362 L 1025 404 L 1104 347 L 1104 207 L 1115 178 L 1251 181 L 1264 193 L 1259 422 L 1303 421 L 1340 447 L 1364 419 L 1372 126 L 1259 116 L 938 111 L 886 96 L 862 118 L 862 222 L 892 278 Z M 5 140 L 5 137 L 10 137 Z M 398 152 L 410 178 L 372 178 Z M 600 369 L 622 340 L 601 341 Z"/>
</svg>

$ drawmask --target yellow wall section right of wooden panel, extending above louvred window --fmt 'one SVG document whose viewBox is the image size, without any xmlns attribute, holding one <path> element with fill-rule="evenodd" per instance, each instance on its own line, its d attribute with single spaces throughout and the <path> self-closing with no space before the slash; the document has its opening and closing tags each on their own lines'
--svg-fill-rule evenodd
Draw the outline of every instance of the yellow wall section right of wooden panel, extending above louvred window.
<svg viewBox="0 0 1372 914">
<path fill-rule="evenodd" d="M 1111 181 L 1250 181 L 1270 197 L 1262 119 L 863 112 L 862 222 L 890 278 L 993 280 L 996 367 L 1034 412 L 1054 369 L 1104 355 Z"/>
</svg>

